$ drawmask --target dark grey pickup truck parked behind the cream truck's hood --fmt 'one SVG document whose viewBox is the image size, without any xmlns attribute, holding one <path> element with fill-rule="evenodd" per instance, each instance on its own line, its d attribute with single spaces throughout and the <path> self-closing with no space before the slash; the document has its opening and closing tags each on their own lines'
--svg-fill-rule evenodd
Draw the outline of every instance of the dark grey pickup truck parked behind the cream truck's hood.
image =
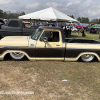
<svg viewBox="0 0 100 100">
<path fill-rule="evenodd" d="M 21 19 L 9 19 L 0 27 L 0 38 L 5 36 L 29 36 L 34 33 L 35 28 L 25 28 Z"/>
</svg>

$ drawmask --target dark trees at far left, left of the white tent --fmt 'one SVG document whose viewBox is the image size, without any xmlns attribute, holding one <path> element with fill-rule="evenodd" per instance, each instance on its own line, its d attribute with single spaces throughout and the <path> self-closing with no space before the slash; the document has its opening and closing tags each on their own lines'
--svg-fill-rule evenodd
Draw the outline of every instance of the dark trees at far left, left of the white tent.
<svg viewBox="0 0 100 100">
<path fill-rule="evenodd" d="M 0 9 L 0 18 L 10 19 L 10 18 L 18 18 L 18 16 L 25 15 L 24 11 L 16 11 L 12 13 L 11 11 L 3 11 Z"/>
</svg>

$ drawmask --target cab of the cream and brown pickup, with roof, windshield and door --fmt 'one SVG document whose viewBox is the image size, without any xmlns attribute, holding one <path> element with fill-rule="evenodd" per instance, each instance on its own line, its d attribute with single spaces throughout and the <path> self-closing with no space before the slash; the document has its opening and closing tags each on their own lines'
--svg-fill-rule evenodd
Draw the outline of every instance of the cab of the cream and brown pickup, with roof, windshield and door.
<svg viewBox="0 0 100 100">
<path fill-rule="evenodd" d="M 31 36 L 32 40 L 36 40 L 36 59 L 64 60 L 65 43 L 62 42 L 64 38 L 62 36 L 60 28 L 39 27 L 36 33 Z M 33 42 L 29 43 L 32 46 Z"/>
</svg>

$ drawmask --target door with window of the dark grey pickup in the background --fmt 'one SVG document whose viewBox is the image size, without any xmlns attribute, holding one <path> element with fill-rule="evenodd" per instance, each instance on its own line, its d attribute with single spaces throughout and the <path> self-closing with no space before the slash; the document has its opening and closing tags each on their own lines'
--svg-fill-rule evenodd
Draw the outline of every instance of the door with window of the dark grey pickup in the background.
<svg viewBox="0 0 100 100">
<path fill-rule="evenodd" d="M 22 34 L 22 29 L 19 27 L 19 22 L 17 20 L 11 20 L 7 27 L 7 36 L 20 36 Z"/>
</svg>

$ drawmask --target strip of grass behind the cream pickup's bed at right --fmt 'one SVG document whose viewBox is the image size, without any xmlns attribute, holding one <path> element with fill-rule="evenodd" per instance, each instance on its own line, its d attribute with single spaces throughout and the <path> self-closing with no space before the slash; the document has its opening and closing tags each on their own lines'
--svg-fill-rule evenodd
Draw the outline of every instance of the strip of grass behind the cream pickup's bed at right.
<svg viewBox="0 0 100 100">
<path fill-rule="evenodd" d="M 78 34 L 79 34 L 79 36 L 78 36 Z M 95 40 L 100 41 L 99 34 L 89 33 L 89 32 L 85 32 L 85 34 L 86 34 L 86 37 L 82 37 L 82 33 L 72 32 L 71 36 L 69 38 L 95 39 Z"/>
</svg>

